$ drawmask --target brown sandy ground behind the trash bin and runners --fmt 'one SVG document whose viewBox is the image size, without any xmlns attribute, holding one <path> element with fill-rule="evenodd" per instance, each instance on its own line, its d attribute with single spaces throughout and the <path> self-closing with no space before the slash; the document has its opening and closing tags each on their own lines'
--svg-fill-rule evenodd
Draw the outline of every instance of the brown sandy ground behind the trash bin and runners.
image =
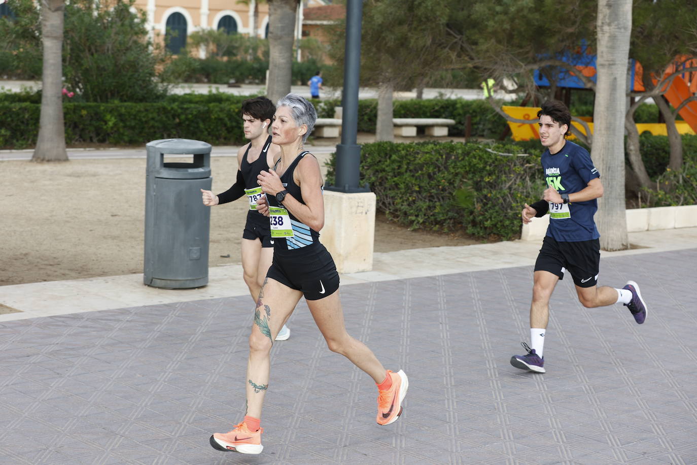
<svg viewBox="0 0 697 465">
<path fill-rule="evenodd" d="M 235 163 L 211 159 L 213 192 L 229 188 Z M 0 162 L 0 285 L 142 273 L 145 169 L 145 159 Z M 211 267 L 240 261 L 242 200 L 211 209 Z M 376 218 L 375 252 L 471 243 Z"/>
</svg>

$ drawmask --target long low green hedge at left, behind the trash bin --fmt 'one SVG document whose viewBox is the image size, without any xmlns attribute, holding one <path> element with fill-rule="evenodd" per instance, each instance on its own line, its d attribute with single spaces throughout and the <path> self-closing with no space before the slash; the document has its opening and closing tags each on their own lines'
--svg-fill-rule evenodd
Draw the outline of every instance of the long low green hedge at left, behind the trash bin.
<svg viewBox="0 0 697 465">
<path fill-rule="evenodd" d="M 65 103 L 66 144 L 141 145 L 183 137 L 209 144 L 242 144 L 240 103 Z M 0 147 L 36 144 L 40 105 L 1 103 Z"/>
</svg>

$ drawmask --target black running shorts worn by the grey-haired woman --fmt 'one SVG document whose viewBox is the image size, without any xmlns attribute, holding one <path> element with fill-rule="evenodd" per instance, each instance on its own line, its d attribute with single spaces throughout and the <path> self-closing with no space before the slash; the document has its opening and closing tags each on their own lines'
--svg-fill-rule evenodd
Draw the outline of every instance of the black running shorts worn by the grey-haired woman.
<svg viewBox="0 0 697 465">
<path fill-rule="evenodd" d="M 266 277 L 302 291 L 306 300 L 319 300 L 339 289 L 334 259 L 321 243 L 287 252 L 274 250 Z"/>
</svg>

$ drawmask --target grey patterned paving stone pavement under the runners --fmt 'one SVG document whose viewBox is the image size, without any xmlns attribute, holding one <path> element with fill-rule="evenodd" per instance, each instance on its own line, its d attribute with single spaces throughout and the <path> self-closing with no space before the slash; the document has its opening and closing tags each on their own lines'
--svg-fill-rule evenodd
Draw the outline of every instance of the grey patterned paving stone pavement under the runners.
<svg viewBox="0 0 697 465">
<path fill-rule="evenodd" d="M 342 287 L 348 332 L 410 387 L 376 425 L 376 389 L 326 348 L 303 303 L 273 349 L 258 456 L 218 452 L 241 420 L 248 297 L 0 323 L 1 464 L 695 464 L 697 249 L 602 259 L 648 319 L 586 309 L 558 284 L 546 374 L 527 340 L 530 266 Z"/>
</svg>

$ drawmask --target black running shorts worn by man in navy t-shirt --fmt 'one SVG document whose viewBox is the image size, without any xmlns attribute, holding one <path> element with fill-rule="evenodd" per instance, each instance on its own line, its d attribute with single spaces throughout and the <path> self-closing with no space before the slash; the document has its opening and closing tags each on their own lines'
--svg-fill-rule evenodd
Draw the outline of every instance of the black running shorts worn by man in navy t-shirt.
<svg viewBox="0 0 697 465">
<path fill-rule="evenodd" d="M 569 270 L 578 287 L 593 287 L 598 282 L 600 241 L 557 242 L 545 236 L 535 261 L 535 271 L 549 271 L 564 278 Z"/>
</svg>

